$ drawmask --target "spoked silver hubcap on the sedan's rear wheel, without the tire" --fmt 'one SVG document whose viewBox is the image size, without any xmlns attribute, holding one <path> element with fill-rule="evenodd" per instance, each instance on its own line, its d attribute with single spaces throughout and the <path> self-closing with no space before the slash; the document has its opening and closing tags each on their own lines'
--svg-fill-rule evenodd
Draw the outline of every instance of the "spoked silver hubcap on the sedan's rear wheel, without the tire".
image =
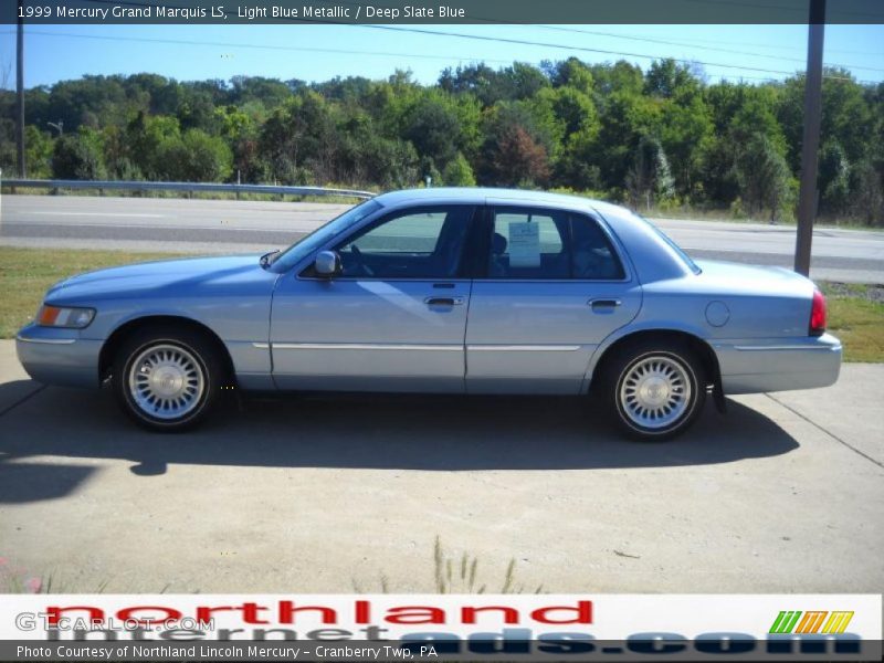
<svg viewBox="0 0 884 663">
<path fill-rule="evenodd" d="M 620 385 L 627 417 L 642 428 L 662 429 L 681 418 L 691 403 L 691 380 L 678 361 L 652 356 L 633 365 Z"/>
</svg>

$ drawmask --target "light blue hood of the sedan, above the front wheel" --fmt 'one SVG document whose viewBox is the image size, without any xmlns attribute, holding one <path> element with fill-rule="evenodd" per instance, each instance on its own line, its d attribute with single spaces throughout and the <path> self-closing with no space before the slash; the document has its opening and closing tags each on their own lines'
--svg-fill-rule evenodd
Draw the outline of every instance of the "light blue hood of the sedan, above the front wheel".
<svg viewBox="0 0 884 663">
<path fill-rule="evenodd" d="M 144 291 L 175 290 L 183 294 L 203 284 L 230 284 L 264 273 L 260 257 L 261 254 L 187 257 L 96 270 L 56 283 L 46 294 L 46 302 L 107 298 Z"/>
</svg>

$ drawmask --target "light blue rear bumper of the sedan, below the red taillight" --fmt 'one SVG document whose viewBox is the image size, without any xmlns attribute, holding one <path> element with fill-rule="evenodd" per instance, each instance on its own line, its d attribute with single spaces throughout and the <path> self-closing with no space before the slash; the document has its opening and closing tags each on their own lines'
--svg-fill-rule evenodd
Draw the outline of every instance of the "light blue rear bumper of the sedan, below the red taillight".
<svg viewBox="0 0 884 663">
<path fill-rule="evenodd" d="M 715 344 L 725 393 L 829 387 L 841 370 L 841 341 L 831 336 Z"/>
</svg>

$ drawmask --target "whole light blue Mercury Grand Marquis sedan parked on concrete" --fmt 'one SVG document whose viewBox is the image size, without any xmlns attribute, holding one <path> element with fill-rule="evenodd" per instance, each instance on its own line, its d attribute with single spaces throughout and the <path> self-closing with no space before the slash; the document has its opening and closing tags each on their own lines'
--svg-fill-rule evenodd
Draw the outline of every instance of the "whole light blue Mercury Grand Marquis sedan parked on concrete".
<svg viewBox="0 0 884 663">
<path fill-rule="evenodd" d="M 632 212 L 583 198 L 422 189 L 362 202 L 286 251 L 62 281 L 21 329 L 49 385 L 109 383 L 155 430 L 243 390 L 586 393 L 671 438 L 707 392 L 825 387 L 841 344 L 813 283 L 692 261 Z"/>
</svg>

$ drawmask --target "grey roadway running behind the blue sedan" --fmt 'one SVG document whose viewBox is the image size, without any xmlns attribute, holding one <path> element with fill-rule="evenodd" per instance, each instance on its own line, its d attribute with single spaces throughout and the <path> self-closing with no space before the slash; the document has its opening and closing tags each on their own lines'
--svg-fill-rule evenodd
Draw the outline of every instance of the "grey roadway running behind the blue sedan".
<svg viewBox="0 0 884 663">
<path fill-rule="evenodd" d="M 10 194 L 0 206 L 0 244 L 198 253 L 284 246 L 348 207 Z M 792 265 L 794 227 L 672 219 L 655 222 L 695 257 Z M 884 283 L 884 232 L 818 228 L 811 276 Z"/>
</svg>

